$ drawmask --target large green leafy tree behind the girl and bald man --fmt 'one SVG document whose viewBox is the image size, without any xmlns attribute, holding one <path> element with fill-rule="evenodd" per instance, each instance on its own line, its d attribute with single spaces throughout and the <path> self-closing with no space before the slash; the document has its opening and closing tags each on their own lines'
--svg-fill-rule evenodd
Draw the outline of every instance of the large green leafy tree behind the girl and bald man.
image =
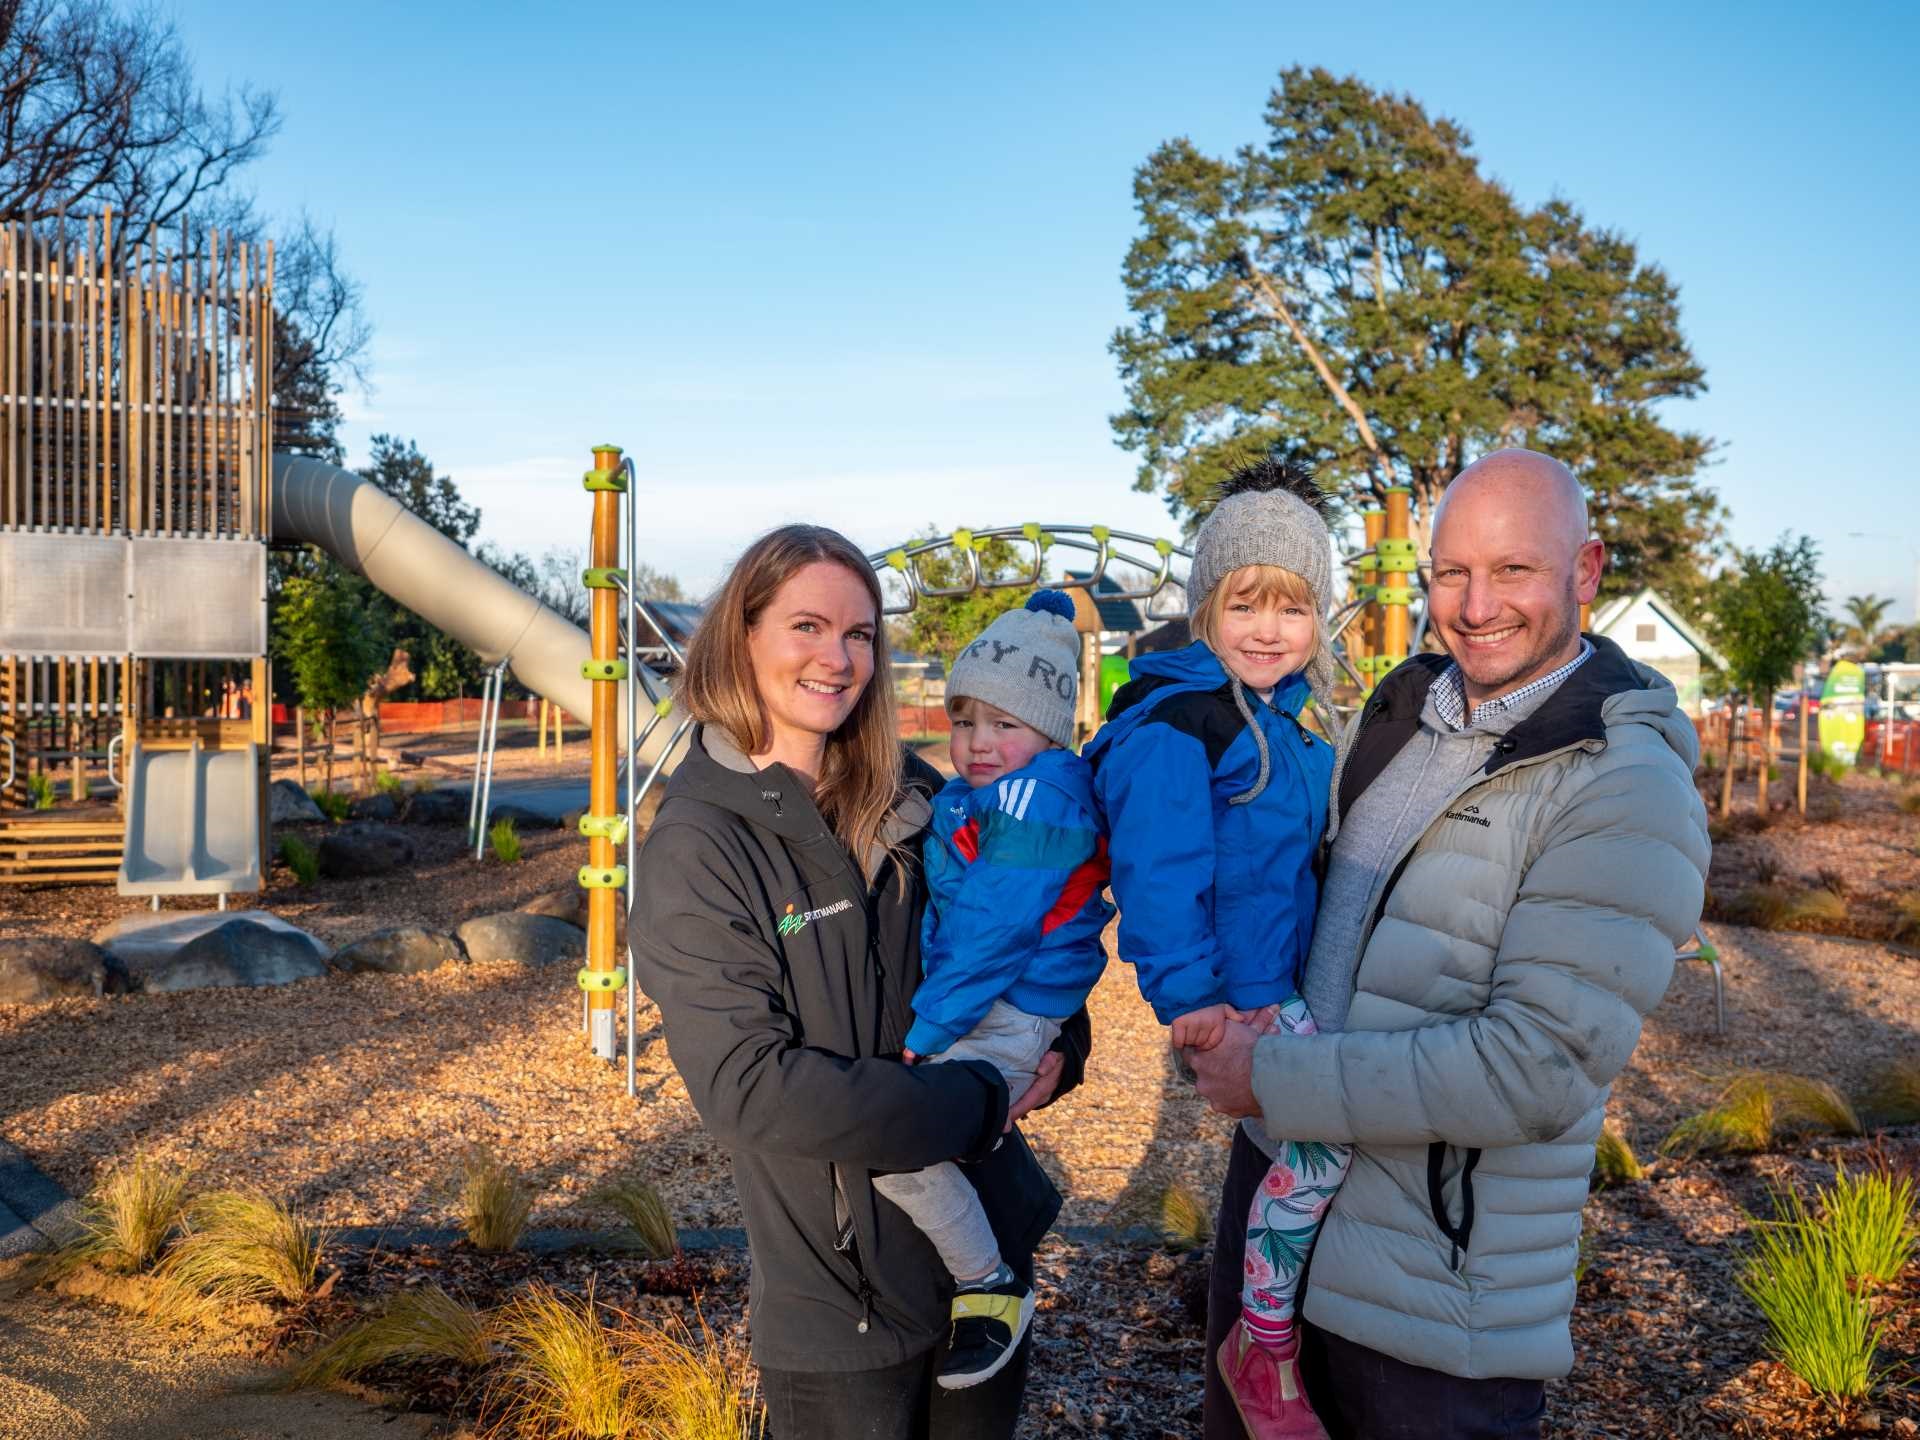
<svg viewBox="0 0 1920 1440">
<path fill-rule="evenodd" d="M 1415 522 L 1476 455 L 1528 445 L 1586 484 L 1613 591 L 1697 599 L 1713 444 L 1663 403 L 1705 388 L 1674 282 L 1624 236 L 1480 173 L 1411 96 L 1283 71 L 1265 138 L 1169 140 L 1135 175 L 1140 230 L 1112 340 L 1137 486 L 1187 520 L 1248 459 L 1342 490 L 1413 488 Z"/>
</svg>

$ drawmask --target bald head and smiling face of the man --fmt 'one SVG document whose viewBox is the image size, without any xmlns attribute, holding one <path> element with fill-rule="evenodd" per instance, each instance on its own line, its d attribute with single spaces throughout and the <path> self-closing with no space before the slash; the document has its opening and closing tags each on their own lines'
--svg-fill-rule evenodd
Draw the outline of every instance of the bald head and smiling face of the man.
<svg viewBox="0 0 1920 1440">
<path fill-rule="evenodd" d="M 1434 513 L 1430 628 L 1471 703 L 1580 653 L 1580 607 L 1605 563 L 1580 482 L 1551 455 L 1496 449 L 1453 478 Z"/>
</svg>

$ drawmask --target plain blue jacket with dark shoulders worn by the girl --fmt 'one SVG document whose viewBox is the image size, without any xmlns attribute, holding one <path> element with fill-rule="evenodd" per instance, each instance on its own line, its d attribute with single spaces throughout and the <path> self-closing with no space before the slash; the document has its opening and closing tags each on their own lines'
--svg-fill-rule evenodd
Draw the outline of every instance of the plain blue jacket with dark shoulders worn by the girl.
<svg viewBox="0 0 1920 1440">
<path fill-rule="evenodd" d="M 1142 655 L 1087 743 L 1106 820 L 1119 958 L 1139 972 L 1160 1023 L 1208 1004 L 1254 1008 L 1294 993 L 1313 937 L 1313 852 L 1327 828 L 1332 745 L 1294 718 L 1306 676 L 1273 701 L 1246 691 L 1267 737 L 1260 751 L 1233 684 L 1204 643 Z"/>
</svg>

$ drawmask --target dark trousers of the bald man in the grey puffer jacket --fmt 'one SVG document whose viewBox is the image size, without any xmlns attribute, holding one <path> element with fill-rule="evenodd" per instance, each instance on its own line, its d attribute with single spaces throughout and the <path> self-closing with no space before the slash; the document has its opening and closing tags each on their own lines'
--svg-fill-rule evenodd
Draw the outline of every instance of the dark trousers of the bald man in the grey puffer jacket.
<svg viewBox="0 0 1920 1440">
<path fill-rule="evenodd" d="M 1213 1356 L 1240 1319 L 1246 1210 L 1265 1173 L 1260 1146 L 1246 1131 L 1235 1131 L 1208 1279 L 1206 1440 L 1246 1440 Z M 1332 1440 L 1540 1440 L 1546 1417 L 1540 1380 L 1463 1380 L 1306 1323 L 1300 1325 L 1300 1379 Z"/>
</svg>

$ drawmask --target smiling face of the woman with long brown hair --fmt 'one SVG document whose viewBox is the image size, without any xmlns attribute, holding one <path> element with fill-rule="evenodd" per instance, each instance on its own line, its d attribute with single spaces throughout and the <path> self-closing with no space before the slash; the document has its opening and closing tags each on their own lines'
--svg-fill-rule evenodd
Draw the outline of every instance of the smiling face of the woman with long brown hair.
<svg viewBox="0 0 1920 1440">
<path fill-rule="evenodd" d="M 747 632 L 753 682 L 772 722 L 772 749 L 818 747 L 845 724 L 874 678 L 874 599 L 847 566 L 795 570 Z"/>
</svg>

